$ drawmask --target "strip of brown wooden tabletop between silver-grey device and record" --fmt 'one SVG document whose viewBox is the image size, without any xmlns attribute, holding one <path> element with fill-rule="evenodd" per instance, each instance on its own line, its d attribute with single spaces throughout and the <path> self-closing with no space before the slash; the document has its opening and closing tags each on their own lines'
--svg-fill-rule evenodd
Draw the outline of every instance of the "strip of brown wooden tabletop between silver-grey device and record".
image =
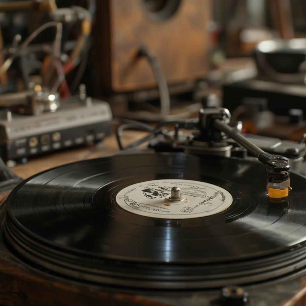
<svg viewBox="0 0 306 306">
<path fill-rule="evenodd" d="M 147 135 L 146 132 L 126 131 L 122 138 L 123 144 L 126 145 Z M 17 164 L 11 170 L 22 178 L 28 178 L 31 175 L 41 171 L 65 165 L 70 162 L 77 162 L 83 159 L 93 159 L 103 157 L 119 150 L 116 136 L 105 137 L 103 142 L 86 147 L 77 147 L 70 150 L 59 151 L 48 155 L 42 155 L 28 160 L 25 164 Z"/>
</svg>

